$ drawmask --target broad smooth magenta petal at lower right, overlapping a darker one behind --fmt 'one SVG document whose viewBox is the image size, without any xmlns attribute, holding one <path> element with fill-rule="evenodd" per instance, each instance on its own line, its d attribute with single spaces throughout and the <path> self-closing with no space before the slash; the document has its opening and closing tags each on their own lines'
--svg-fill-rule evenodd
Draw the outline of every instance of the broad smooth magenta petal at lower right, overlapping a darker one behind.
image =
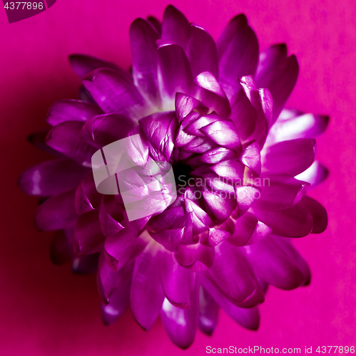
<svg viewBox="0 0 356 356">
<path fill-rule="evenodd" d="M 256 276 L 263 281 L 285 290 L 297 288 L 302 283 L 303 276 L 297 263 L 272 236 L 248 246 L 247 251 Z"/>
</svg>

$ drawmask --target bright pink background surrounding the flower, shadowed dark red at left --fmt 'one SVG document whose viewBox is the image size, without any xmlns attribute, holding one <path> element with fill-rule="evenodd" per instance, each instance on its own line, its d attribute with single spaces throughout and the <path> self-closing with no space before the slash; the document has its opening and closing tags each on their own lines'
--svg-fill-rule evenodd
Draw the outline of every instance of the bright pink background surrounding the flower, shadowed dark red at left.
<svg viewBox="0 0 356 356">
<path fill-rule="evenodd" d="M 48 11 L 11 25 L 0 9 L 0 355 L 204 355 L 207 345 L 302 350 L 312 345 L 313 351 L 317 345 L 356 345 L 355 1 L 172 2 L 215 38 L 232 16 L 244 12 L 261 48 L 288 43 L 301 66 L 289 105 L 331 116 L 317 154 L 331 173 L 312 192 L 326 206 L 330 224 L 324 234 L 296 241 L 310 263 L 311 286 L 270 288 L 258 332 L 220 312 L 213 337 L 198 332 L 188 351 L 171 343 L 160 320 L 145 333 L 130 311 L 104 327 L 95 277 L 51 265 L 52 234 L 34 229 L 36 199 L 21 193 L 16 179 L 48 158 L 26 136 L 44 125 L 51 103 L 76 97 L 79 80 L 68 54 L 88 53 L 128 68 L 131 21 L 148 14 L 161 19 L 168 3 L 58 0 Z"/>
</svg>

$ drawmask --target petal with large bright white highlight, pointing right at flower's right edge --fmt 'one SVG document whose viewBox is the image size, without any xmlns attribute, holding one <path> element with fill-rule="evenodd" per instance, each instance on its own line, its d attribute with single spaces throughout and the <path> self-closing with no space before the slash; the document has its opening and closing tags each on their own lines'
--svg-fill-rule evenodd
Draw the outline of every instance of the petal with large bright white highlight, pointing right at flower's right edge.
<svg viewBox="0 0 356 356">
<path fill-rule="evenodd" d="M 328 123 L 328 116 L 304 114 L 284 118 L 282 112 L 271 127 L 268 143 L 273 144 L 297 138 L 315 138 L 325 131 Z"/>
</svg>

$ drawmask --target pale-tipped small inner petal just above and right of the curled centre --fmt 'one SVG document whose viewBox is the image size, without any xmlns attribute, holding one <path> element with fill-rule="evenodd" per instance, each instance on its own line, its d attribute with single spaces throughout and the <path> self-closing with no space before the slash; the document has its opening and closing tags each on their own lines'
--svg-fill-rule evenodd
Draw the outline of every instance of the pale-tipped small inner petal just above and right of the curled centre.
<svg viewBox="0 0 356 356">
<path fill-rule="evenodd" d="M 210 72 L 198 74 L 193 83 L 200 88 L 197 95 L 200 101 L 205 104 L 210 111 L 215 111 L 222 119 L 226 119 L 231 114 L 228 98 L 218 80 Z"/>
</svg>

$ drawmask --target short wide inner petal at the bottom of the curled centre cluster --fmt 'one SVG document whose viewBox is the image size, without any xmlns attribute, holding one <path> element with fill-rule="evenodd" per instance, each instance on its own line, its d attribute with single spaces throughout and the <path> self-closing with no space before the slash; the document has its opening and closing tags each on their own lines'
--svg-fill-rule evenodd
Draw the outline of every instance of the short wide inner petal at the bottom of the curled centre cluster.
<svg viewBox="0 0 356 356">
<path fill-rule="evenodd" d="M 212 247 L 206 247 L 198 243 L 195 245 L 180 245 L 175 253 L 180 266 L 199 272 L 213 266 L 215 251 Z"/>
</svg>

